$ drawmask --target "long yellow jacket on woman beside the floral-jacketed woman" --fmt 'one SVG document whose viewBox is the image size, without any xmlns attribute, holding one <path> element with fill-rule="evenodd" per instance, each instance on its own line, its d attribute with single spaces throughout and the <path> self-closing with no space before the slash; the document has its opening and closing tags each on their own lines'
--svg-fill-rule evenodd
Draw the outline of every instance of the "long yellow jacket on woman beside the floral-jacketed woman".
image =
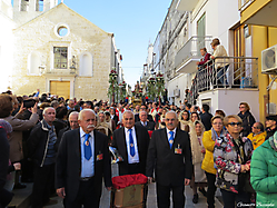
<svg viewBox="0 0 277 208">
<path fill-rule="evenodd" d="M 202 160 L 202 166 L 201 168 L 209 174 L 217 174 L 217 170 L 214 167 L 214 148 L 215 148 L 215 142 L 211 139 L 211 130 L 205 131 L 202 136 L 202 145 L 206 149 L 206 153 Z"/>
</svg>

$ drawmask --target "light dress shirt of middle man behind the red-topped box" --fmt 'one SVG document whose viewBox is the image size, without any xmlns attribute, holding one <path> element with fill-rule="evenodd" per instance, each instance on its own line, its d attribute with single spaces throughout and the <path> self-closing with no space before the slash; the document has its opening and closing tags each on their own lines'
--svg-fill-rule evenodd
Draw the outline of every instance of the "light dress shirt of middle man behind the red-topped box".
<svg viewBox="0 0 277 208">
<path fill-rule="evenodd" d="M 131 128 L 131 135 L 133 139 L 133 146 L 135 146 L 135 156 L 132 157 L 130 155 L 130 142 L 129 142 L 129 129 L 125 128 L 125 136 L 126 136 L 126 146 L 127 146 L 127 153 L 128 153 L 128 164 L 138 164 L 139 162 L 139 152 L 138 152 L 138 143 L 137 143 L 137 137 L 136 137 L 136 130 L 135 127 Z"/>
</svg>

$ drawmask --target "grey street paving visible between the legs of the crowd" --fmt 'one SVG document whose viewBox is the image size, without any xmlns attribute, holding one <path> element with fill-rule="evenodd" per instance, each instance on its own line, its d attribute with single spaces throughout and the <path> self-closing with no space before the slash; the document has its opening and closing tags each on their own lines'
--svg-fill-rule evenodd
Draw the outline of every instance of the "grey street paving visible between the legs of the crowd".
<svg viewBox="0 0 277 208">
<path fill-rule="evenodd" d="M 118 170 L 117 170 L 117 165 L 112 165 L 112 176 L 118 176 Z M 219 191 L 217 192 L 217 195 Z M 199 202 L 198 204 L 192 204 L 192 189 L 190 187 L 185 188 L 185 195 L 186 195 L 186 208 L 207 208 L 206 205 L 206 198 L 201 195 L 199 195 Z M 62 207 L 62 200 L 58 197 L 52 198 L 59 200 L 58 205 L 55 206 L 47 206 L 46 208 L 61 208 Z M 102 190 L 102 197 L 101 197 L 101 208 L 109 208 L 110 206 L 110 192 L 107 191 L 105 188 Z M 148 208 L 156 208 L 157 202 L 156 202 L 156 184 L 149 185 L 149 191 L 148 191 L 148 199 L 147 199 L 147 207 Z M 216 198 L 216 208 L 222 208 L 224 206 L 218 201 Z"/>
</svg>

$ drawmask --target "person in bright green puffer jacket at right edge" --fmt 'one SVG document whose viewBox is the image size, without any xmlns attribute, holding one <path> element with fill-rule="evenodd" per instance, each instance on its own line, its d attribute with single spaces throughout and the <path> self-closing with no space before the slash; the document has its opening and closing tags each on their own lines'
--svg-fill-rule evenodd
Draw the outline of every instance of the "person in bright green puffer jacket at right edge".
<svg viewBox="0 0 277 208">
<path fill-rule="evenodd" d="M 253 152 L 250 180 L 257 207 L 277 206 L 277 132 Z"/>
</svg>

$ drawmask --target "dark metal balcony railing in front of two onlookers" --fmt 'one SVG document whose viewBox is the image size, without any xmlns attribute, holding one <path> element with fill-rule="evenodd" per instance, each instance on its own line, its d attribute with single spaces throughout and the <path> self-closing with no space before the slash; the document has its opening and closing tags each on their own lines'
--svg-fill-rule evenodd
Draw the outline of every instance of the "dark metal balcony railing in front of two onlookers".
<svg viewBox="0 0 277 208">
<path fill-rule="evenodd" d="M 217 88 L 258 88 L 258 58 L 217 57 L 198 68 L 190 89 L 190 102 L 199 92 Z"/>
</svg>

